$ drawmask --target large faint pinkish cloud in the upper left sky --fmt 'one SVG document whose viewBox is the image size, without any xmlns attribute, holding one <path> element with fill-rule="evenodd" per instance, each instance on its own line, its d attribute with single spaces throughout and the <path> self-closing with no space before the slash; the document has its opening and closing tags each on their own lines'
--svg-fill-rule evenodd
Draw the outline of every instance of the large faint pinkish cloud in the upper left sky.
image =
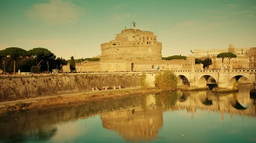
<svg viewBox="0 0 256 143">
<path fill-rule="evenodd" d="M 49 3 L 33 5 L 27 11 L 27 16 L 47 24 L 71 24 L 75 23 L 82 12 L 82 7 L 70 1 L 49 0 Z"/>
</svg>

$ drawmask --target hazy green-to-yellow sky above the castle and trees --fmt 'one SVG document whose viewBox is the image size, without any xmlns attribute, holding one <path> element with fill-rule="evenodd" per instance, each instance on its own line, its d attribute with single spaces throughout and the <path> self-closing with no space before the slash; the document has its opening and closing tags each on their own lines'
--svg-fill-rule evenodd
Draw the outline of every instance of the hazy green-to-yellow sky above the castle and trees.
<svg viewBox="0 0 256 143">
<path fill-rule="evenodd" d="M 0 0 L 0 50 L 90 58 L 131 21 L 157 35 L 163 57 L 256 47 L 256 0 Z"/>
</svg>

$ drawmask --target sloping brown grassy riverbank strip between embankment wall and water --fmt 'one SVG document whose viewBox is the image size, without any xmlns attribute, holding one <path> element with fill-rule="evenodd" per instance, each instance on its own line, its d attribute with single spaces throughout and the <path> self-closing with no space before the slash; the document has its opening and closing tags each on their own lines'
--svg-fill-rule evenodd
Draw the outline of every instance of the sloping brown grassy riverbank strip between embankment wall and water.
<svg viewBox="0 0 256 143">
<path fill-rule="evenodd" d="M 44 96 L 38 98 L 30 98 L 16 101 L 0 102 L 0 114 L 6 112 L 13 112 L 31 108 L 42 108 L 61 104 L 74 104 L 82 102 L 92 102 L 113 98 L 125 98 L 127 96 L 141 95 L 141 94 L 154 94 L 162 91 L 159 88 L 152 87 L 147 90 L 141 88 L 126 88 L 118 90 L 101 90 L 95 92 L 73 93 L 55 96 Z"/>
</svg>

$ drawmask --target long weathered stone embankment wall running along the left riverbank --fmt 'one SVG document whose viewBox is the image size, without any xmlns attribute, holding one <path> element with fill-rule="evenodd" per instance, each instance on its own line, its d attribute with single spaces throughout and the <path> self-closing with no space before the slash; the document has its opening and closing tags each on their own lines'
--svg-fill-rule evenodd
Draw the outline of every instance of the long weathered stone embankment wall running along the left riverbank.
<svg viewBox="0 0 256 143">
<path fill-rule="evenodd" d="M 157 73 L 157 72 L 156 72 Z M 90 91 L 121 85 L 122 88 L 140 87 L 143 73 L 69 73 L 0 76 L 0 102 L 45 95 Z M 155 73 L 146 73 L 154 86 Z"/>
</svg>

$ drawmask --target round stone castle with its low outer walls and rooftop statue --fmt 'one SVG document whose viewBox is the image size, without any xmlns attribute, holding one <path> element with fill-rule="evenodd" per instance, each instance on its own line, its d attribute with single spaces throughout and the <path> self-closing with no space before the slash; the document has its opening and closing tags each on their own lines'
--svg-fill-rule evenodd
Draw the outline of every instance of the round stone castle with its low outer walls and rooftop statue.
<svg viewBox="0 0 256 143">
<path fill-rule="evenodd" d="M 98 62 L 84 61 L 76 64 L 76 72 L 156 71 L 186 70 L 194 67 L 195 57 L 162 60 L 162 43 L 150 31 L 134 28 L 124 29 L 116 38 L 101 44 L 102 55 Z M 70 72 L 69 64 L 63 72 Z"/>
</svg>

